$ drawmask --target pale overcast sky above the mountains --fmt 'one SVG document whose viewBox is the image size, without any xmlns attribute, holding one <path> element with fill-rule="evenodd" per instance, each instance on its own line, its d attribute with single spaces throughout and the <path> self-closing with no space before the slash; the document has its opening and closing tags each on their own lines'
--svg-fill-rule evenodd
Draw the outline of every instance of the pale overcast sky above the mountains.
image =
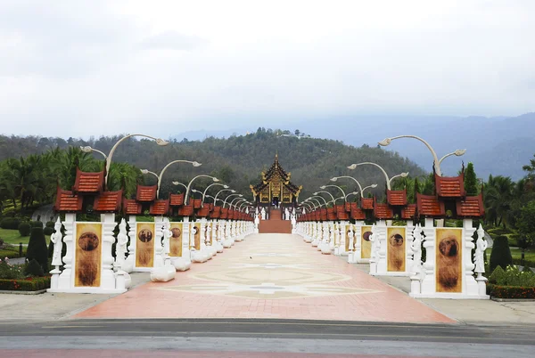
<svg viewBox="0 0 535 358">
<path fill-rule="evenodd" d="M 531 0 L 2 0 L 0 133 L 517 116 L 534 17 Z"/>
</svg>

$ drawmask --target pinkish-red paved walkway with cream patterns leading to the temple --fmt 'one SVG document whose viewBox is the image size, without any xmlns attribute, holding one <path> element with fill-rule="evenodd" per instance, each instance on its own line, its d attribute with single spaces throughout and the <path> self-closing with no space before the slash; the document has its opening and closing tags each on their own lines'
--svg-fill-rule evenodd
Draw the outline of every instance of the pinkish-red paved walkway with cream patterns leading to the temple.
<svg viewBox="0 0 535 358">
<path fill-rule="evenodd" d="M 289 234 L 251 235 L 173 281 L 146 283 L 73 318 L 455 322 Z"/>
</svg>

